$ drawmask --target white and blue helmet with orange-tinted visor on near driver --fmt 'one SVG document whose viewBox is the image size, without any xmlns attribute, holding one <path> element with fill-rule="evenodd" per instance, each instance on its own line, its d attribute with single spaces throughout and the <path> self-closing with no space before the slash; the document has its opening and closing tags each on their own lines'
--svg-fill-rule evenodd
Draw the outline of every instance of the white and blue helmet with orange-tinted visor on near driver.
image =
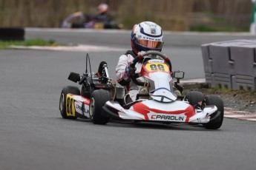
<svg viewBox="0 0 256 170">
<path fill-rule="evenodd" d="M 135 24 L 131 31 L 131 48 L 134 52 L 156 50 L 162 51 L 163 30 L 151 21 Z"/>
</svg>

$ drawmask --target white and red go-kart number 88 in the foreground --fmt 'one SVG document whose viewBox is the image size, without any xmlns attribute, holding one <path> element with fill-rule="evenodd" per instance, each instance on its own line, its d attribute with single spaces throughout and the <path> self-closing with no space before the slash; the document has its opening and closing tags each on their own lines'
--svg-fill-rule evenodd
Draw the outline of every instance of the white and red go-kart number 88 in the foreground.
<svg viewBox="0 0 256 170">
<path fill-rule="evenodd" d="M 109 76 L 105 61 L 99 64 L 98 72 L 88 73 L 88 61 L 83 75 L 70 72 L 68 79 L 82 85 L 65 86 L 59 99 L 62 118 L 90 118 L 95 124 L 109 120 L 131 120 L 134 122 L 191 123 L 202 124 L 206 129 L 219 129 L 223 123 L 223 100 L 218 95 L 203 95 L 190 91 L 182 95 L 180 79 L 183 71 L 171 71 L 171 61 L 162 52 L 141 52 L 134 58 L 131 67 L 141 62 L 142 67 L 131 78 L 142 86 L 137 100 L 124 103 L 127 92 L 116 86 Z M 176 81 L 175 81 L 176 80 Z M 175 90 L 176 89 L 176 90 Z M 175 91 L 174 91 L 175 90 Z"/>
</svg>

